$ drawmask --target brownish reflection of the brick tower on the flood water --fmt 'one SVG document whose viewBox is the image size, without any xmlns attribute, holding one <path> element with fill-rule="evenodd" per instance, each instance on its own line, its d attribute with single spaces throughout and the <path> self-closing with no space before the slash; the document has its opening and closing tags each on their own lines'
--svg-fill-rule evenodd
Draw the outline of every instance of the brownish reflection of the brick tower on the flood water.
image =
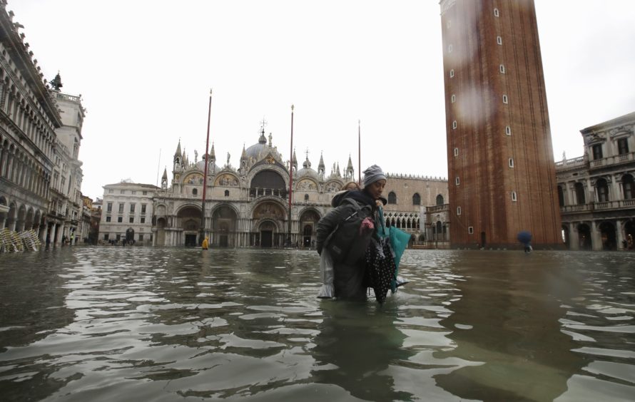
<svg viewBox="0 0 635 402">
<path fill-rule="evenodd" d="M 457 347 L 436 355 L 482 364 L 438 375 L 437 384 L 467 399 L 552 401 L 584 366 L 559 330 L 566 315 L 560 300 L 579 294 L 580 279 L 549 269 L 552 254 L 497 252 L 496 264 L 492 257 L 474 252 L 454 267 L 466 278 L 457 283 L 462 298 L 441 324 L 453 330 L 448 337 Z"/>
</svg>

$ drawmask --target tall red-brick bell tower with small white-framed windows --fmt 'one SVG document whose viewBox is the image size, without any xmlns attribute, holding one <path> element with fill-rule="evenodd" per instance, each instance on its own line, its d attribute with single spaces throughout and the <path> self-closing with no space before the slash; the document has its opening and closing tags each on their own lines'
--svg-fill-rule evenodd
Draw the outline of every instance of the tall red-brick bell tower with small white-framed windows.
<svg viewBox="0 0 635 402">
<path fill-rule="evenodd" d="M 534 0 L 441 0 L 452 247 L 560 247 Z"/>
</svg>

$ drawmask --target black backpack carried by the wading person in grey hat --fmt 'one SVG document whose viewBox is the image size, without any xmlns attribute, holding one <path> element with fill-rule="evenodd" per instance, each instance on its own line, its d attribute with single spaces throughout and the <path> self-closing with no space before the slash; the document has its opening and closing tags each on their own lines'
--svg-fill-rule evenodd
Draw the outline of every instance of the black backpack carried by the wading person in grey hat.
<svg viewBox="0 0 635 402">
<path fill-rule="evenodd" d="M 372 217 L 370 205 L 360 207 L 355 200 L 345 198 L 340 205 L 343 219 L 325 240 L 333 261 L 355 264 L 364 257 L 372 231 L 360 235 L 362 221 Z"/>
</svg>

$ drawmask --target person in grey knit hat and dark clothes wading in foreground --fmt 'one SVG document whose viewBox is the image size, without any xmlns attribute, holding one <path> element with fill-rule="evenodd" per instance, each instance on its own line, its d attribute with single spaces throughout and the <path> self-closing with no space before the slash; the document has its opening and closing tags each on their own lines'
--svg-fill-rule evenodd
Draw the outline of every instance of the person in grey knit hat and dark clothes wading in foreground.
<svg viewBox="0 0 635 402">
<path fill-rule="evenodd" d="M 317 223 L 316 246 L 324 283 L 318 297 L 366 299 L 365 251 L 381 225 L 378 213 L 386 204 L 382 198 L 386 175 L 372 165 L 364 170 L 363 185 L 362 190 L 338 192 L 331 202 L 335 209 Z"/>
</svg>

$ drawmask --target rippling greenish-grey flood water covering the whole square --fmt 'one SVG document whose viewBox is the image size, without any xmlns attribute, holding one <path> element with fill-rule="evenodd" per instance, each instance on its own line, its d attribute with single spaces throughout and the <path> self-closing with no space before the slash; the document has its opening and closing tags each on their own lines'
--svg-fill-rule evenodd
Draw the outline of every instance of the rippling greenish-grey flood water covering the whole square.
<svg viewBox="0 0 635 402">
<path fill-rule="evenodd" d="M 633 401 L 635 253 L 407 250 L 383 306 L 317 253 L 0 254 L 3 401 Z"/>
</svg>

